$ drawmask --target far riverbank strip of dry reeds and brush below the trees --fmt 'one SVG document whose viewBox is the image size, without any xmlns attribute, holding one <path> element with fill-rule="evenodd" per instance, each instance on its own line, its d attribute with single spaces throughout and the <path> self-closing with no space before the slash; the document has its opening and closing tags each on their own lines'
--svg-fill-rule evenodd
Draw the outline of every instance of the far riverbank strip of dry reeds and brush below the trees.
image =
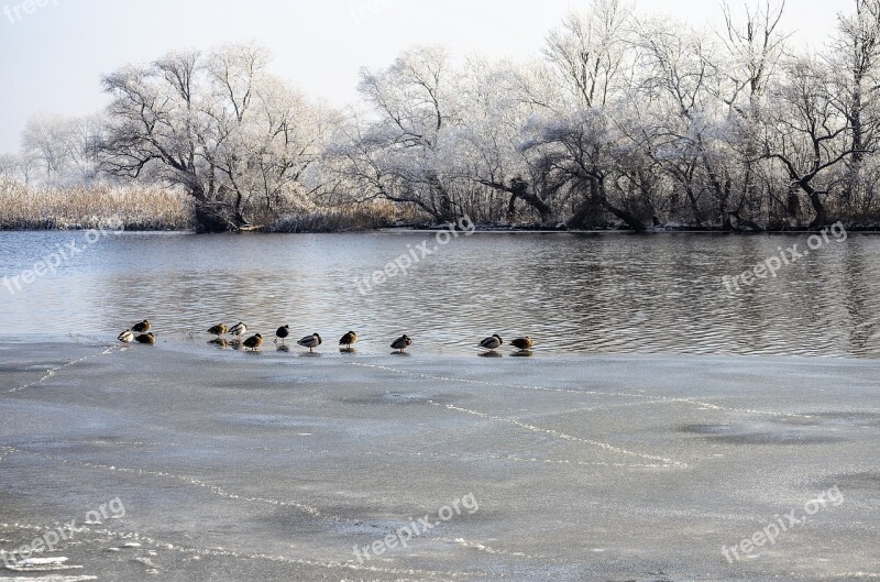
<svg viewBox="0 0 880 582">
<path fill-rule="evenodd" d="M 634 232 L 614 221 L 600 222 L 588 230 L 572 229 L 564 222 L 556 226 L 530 223 L 470 223 L 482 232 Z M 880 233 L 879 222 L 843 220 L 849 232 Z M 89 188 L 41 188 L 0 177 L 0 231 L 88 230 L 119 227 L 128 231 L 197 231 L 191 197 L 154 186 L 97 185 Z M 262 233 L 344 233 L 380 230 L 440 230 L 448 224 L 425 218 L 415 208 L 387 201 L 341 204 L 308 210 L 282 212 L 265 224 L 244 232 Z M 822 228 L 806 226 L 748 223 L 725 228 L 719 224 L 693 226 L 667 221 L 648 227 L 641 233 L 810 233 Z"/>
</svg>

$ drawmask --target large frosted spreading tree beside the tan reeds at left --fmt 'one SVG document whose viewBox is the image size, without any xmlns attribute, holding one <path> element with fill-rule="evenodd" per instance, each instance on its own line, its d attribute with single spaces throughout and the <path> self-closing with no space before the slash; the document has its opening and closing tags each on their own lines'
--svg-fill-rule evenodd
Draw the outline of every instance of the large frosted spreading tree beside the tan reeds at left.
<svg viewBox="0 0 880 582">
<path fill-rule="evenodd" d="M 224 45 L 169 53 L 103 78 L 112 96 L 102 166 L 127 179 L 182 186 L 202 230 L 248 230 L 310 190 L 323 147 L 317 109 L 266 72 L 268 54 Z M 256 221 L 256 223 L 254 222 Z"/>
</svg>

